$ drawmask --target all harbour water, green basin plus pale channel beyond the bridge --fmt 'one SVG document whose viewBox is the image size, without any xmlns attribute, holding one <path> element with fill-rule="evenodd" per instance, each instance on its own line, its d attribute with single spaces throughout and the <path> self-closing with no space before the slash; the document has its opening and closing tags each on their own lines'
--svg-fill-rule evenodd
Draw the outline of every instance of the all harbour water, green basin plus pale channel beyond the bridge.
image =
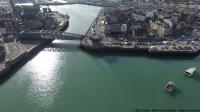
<svg viewBox="0 0 200 112">
<path fill-rule="evenodd" d="M 52 7 L 70 14 L 69 32 L 84 34 L 99 7 Z M 77 18 L 78 17 L 78 18 Z M 134 112 L 135 109 L 199 109 L 200 57 L 87 53 L 78 42 L 55 41 L 1 80 L 0 112 Z M 163 91 L 176 83 L 174 94 Z"/>
</svg>

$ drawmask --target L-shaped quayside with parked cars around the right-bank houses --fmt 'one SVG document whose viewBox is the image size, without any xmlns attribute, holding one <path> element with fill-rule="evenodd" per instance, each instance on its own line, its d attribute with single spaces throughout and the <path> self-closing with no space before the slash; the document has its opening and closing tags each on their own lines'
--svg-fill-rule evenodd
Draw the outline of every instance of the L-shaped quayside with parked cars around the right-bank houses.
<svg viewBox="0 0 200 112">
<path fill-rule="evenodd" d="M 169 37 L 158 38 L 156 36 L 133 37 L 130 34 L 125 34 L 124 32 L 105 34 L 104 22 L 105 22 L 105 14 L 107 12 L 109 12 L 109 8 L 103 8 L 99 12 L 97 17 L 94 19 L 93 23 L 86 32 L 85 37 L 81 41 L 81 47 L 83 49 L 101 50 L 101 51 L 107 51 L 107 50 L 133 51 L 133 52 L 144 51 L 149 54 L 175 54 L 175 55 L 176 54 L 198 55 L 200 53 L 200 41 L 196 37 L 193 40 L 184 40 L 184 39 L 178 40 Z M 139 17 L 140 16 L 138 16 L 138 18 Z"/>
</svg>

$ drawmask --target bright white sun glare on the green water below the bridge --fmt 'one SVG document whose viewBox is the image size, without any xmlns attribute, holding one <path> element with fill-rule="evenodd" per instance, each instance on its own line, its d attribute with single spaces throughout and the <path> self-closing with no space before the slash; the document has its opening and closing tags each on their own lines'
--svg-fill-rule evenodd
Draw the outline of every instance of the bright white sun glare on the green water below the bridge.
<svg viewBox="0 0 200 112">
<path fill-rule="evenodd" d="M 28 64 L 31 83 L 27 96 L 29 103 L 48 109 L 55 102 L 55 97 L 62 84 L 59 77 L 59 54 L 53 52 L 40 52 Z"/>
</svg>

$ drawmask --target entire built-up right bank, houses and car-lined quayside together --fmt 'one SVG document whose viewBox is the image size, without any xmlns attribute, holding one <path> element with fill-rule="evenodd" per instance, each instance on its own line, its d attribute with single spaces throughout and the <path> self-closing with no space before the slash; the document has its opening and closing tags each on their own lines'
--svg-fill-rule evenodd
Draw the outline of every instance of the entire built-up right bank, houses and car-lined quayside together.
<svg viewBox="0 0 200 112">
<path fill-rule="evenodd" d="M 188 11 L 189 10 L 189 11 Z M 199 9 L 184 10 L 126 2 L 104 8 L 87 31 L 81 46 L 90 50 L 146 51 L 156 54 L 199 54 Z"/>
</svg>

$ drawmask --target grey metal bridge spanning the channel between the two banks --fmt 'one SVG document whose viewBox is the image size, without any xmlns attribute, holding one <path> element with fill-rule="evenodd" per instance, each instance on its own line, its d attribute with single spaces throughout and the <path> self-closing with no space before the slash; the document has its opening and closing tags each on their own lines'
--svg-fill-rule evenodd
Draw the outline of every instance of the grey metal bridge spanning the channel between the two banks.
<svg viewBox="0 0 200 112">
<path fill-rule="evenodd" d="M 82 40 L 84 35 L 55 30 L 34 30 L 20 32 L 20 39 L 30 40 Z"/>
</svg>

